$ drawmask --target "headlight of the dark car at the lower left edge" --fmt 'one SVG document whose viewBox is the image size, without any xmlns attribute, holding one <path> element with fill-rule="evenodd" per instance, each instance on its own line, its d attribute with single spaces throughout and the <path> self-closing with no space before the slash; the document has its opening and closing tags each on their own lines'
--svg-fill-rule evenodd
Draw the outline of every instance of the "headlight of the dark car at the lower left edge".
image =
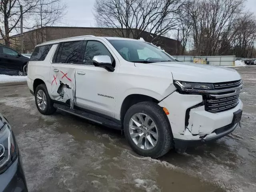
<svg viewBox="0 0 256 192">
<path fill-rule="evenodd" d="M 0 128 L 0 173 L 4 172 L 16 160 L 17 146 L 10 125 Z"/>
</svg>

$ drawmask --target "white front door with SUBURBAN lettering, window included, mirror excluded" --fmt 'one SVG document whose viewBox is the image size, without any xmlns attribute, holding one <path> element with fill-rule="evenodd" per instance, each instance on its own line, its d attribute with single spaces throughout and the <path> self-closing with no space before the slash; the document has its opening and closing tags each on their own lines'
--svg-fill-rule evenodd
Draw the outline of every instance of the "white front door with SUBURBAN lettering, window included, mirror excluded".
<svg viewBox="0 0 256 192">
<path fill-rule="evenodd" d="M 76 104 L 114 117 L 119 61 L 100 39 L 84 41 L 83 50 L 83 62 L 76 65 Z M 110 56 L 112 65 L 115 65 L 114 72 L 94 66 L 92 58 L 97 55 Z"/>
</svg>

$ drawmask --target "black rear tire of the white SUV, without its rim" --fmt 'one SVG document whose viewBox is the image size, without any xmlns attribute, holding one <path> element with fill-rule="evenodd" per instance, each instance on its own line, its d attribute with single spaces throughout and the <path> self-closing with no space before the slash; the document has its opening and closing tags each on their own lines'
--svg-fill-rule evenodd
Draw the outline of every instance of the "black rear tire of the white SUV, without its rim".
<svg viewBox="0 0 256 192">
<path fill-rule="evenodd" d="M 37 99 L 38 99 L 37 93 L 39 90 L 42 90 L 46 96 L 46 108 L 44 110 L 41 110 L 37 103 Z M 50 115 L 50 114 L 53 114 L 54 112 L 56 112 L 56 108 L 54 108 L 54 106 L 53 106 L 54 102 L 51 100 L 45 84 L 40 84 L 36 87 L 35 102 L 36 102 L 36 107 L 37 107 L 38 111 L 44 115 Z"/>
</svg>

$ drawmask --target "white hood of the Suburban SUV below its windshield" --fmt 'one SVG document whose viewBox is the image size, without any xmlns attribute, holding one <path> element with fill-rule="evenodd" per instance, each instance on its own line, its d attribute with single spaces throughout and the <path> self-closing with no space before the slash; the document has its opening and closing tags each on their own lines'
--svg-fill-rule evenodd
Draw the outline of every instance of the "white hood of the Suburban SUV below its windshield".
<svg viewBox="0 0 256 192">
<path fill-rule="evenodd" d="M 162 68 L 162 70 L 169 70 L 172 73 L 174 80 L 187 82 L 228 82 L 240 80 L 241 76 L 236 70 L 212 66 L 206 64 L 194 64 L 188 62 L 158 62 L 158 63 L 135 63 L 136 67 L 140 68 Z"/>
</svg>

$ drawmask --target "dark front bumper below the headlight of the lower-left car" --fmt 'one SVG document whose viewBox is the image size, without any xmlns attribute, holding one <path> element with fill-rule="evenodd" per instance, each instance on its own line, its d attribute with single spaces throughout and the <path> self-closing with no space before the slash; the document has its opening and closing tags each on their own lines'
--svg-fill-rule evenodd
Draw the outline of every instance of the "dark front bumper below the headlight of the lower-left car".
<svg viewBox="0 0 256 192">
<path fill-rule="evenodd" d="M 0 192 L 27 192 L 26 180 L 20 156 L 2 174 L 0 174 Z"/>
</svg>

